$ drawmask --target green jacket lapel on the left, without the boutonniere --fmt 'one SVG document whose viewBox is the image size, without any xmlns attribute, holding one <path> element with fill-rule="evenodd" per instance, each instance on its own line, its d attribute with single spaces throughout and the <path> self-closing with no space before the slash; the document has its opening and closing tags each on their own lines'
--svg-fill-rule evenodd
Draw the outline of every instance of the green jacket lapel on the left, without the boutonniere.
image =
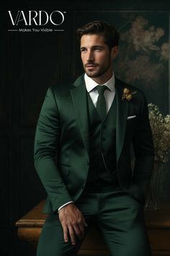
<svg viewBox="0 0 170 256">
<path fill-rule="evenodd" d="M 74 88 L 71 88 L 73 106 L 76 111 L 77 120 L 79 121 L 79 127 L 85 148 L 89 153 L 89 116 L 84 75 L 78 77 L 73 85 Z"/>
</svg>

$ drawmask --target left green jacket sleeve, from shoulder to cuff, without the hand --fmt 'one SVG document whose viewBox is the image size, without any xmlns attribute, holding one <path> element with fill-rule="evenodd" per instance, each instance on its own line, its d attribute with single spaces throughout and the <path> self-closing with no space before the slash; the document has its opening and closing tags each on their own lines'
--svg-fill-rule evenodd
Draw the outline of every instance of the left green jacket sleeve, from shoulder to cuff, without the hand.
<svg viewBox="0 0 170 256">
<path fill-rule="evenodd" d="M 53 205 L 53 211 L 72 201 L 55 163 L 60 137 L 60 119 L 53 88 L 42 104 L 35 132 L 35 168 Z"/>
</svg>

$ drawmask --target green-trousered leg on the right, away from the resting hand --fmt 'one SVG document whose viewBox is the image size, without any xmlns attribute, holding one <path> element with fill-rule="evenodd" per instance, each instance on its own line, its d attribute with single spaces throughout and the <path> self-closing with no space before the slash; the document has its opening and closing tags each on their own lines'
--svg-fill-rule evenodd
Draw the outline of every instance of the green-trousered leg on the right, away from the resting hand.
<svg viewBox="0 0 170 256">
<path fill-rule="evenodd" d="M 121 191 L 100 194 L 97 221 L 112 256 L 151 256 L 138 200 Z"/>
</svg>

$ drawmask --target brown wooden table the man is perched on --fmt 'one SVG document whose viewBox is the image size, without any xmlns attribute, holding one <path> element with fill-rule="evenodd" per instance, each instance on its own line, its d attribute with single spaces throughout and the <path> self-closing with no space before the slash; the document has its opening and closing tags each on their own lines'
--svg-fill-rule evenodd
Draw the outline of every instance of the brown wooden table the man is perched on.
<svg viewBox="0 0 170 256">
<path fill-rule="evenodd" d="M 35 247 L 47 217 L 42 214 L 43 204 L 44 201 L 40 202 L 16 223 L 19 238 Z M 145 210 L 145 218 L 153 256 L 170 256 L 170 202 L 162 202 L 161 210 Z M 96 228 L 90 229 L 78 255 L 109 255 Z"/>
</svg>

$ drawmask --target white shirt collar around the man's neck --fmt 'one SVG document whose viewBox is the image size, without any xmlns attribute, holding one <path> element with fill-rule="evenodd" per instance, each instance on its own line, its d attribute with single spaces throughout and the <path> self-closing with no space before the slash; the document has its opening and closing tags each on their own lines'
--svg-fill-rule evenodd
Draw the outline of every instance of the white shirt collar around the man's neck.
<svg viewBox="0 0 170 256">
<path fill-rule="evenodd" d="M 93 90 L 97 85 L 99 85 L 97 82 L 92 80 L 91 77 L 88 77 L 88 75 L 86 73 L 84 74 L 84 80 L 85 80 L 85 84 L 86 84 L 86 90 L 88 91 L 88 93 L 91 90 Z M 104 85 L 106 85 L 107 88 L 109 88 L 109 90 L 111 90 L 112 92 L 115 91 L 115 74 L 114 74 L 114 72 L 112 74 L 112 77 L 107 82 L 104 82 Z"/>
</svg>

